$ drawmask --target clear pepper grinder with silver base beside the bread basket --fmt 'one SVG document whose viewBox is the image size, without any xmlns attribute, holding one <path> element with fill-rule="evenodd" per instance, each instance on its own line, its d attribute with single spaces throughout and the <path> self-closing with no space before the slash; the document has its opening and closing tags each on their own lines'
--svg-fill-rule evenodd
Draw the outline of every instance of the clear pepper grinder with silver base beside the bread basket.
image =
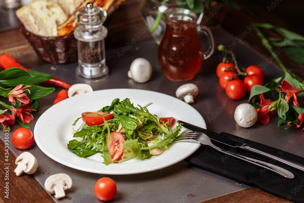
<svg viewBox="0 0 304 203">
<path fill-rule="evenodd" d="M 74 30 L 77 39 L 78 66 L 76 74 L 87 79 L 103 79 L 108 76 L 105 65 L 105 37 L 108 30 L 102 24 L 107 18 L 104 9 L 88 3 L 74 12 L 78 26 Z"/>
</svg>

